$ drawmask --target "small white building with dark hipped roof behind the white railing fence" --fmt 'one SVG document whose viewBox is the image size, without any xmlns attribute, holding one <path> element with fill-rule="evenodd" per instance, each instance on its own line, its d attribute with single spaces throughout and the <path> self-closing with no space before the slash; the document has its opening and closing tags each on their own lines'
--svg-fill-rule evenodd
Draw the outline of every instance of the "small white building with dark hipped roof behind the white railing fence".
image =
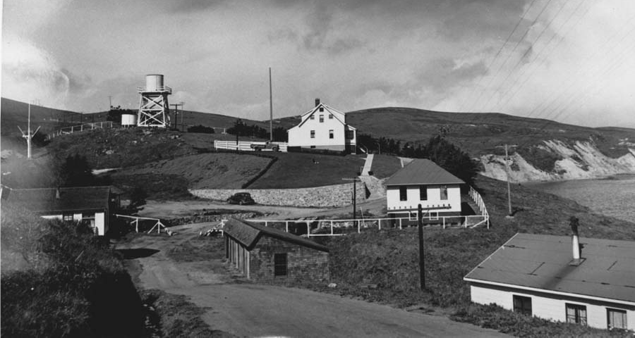
<svg viewBox="0 0 635 338">
<path fill-rule="evenodd" d="M 421 204 L 424 217 L 461 215 L 461 184 L 433 161 L 415 159 L 386 181 L 387 213 L 416 220 Z"/>
</svg>

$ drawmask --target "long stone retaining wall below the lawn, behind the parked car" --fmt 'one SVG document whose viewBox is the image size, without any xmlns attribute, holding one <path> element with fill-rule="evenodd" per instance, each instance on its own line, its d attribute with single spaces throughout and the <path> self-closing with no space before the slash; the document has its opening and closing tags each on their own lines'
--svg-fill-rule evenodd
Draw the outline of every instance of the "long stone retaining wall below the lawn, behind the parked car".
<svg viewBox="0 0 635 338">
<path fill-rule="evenodd" d="M 356 184 L 357 201 L 366 200 L 365 184 Z M 226 200 L 236 192 L 248 192 L 258 204 L 270 206 L 349 206 L 352 204 L 353 183 L 298 189 L 190 189 L 202 199 Z"/>
</svg>

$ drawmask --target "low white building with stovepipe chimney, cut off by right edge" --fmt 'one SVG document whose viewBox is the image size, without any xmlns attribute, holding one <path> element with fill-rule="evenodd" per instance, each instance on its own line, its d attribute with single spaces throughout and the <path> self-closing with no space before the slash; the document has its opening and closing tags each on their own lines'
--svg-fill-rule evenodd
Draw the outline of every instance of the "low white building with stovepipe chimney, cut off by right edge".
<svg viewBox="0 0 635 338">
<path fill-rule="evenodd" d="M 635 242 L 519 233 L 464 280 L 474 303 L 635 330 Z"/>
</svg>

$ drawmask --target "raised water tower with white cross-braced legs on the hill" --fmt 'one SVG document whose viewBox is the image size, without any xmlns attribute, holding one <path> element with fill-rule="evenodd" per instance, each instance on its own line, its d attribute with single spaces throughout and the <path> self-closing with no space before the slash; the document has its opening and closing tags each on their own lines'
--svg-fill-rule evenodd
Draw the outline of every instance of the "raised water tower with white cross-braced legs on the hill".
<svg viewBox="0 0 635 338">
<path fill-rule="evenodd" d="M 167 96 L 170 87 L 163 85 L 163 75 L 145 75 L 145 87 L 138 87 L 141 94 L 137 125 L 139 127 L 167 127 L 170 125 L 170 106 Z"/>
</svg>

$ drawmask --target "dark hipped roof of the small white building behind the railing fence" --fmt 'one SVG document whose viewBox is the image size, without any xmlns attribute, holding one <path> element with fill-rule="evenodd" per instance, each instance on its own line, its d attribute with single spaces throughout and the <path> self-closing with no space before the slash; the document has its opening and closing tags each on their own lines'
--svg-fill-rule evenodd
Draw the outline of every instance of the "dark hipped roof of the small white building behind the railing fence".
<svg viewBox="0 0 635 338">
<path fill-rule="evenodd" d="M 386 185 L 408 184 L 463 184 L 459 177 L 448 173 L 445 169 L 428 159 L 417 158 L 394 173 Z"/>
</svg>

